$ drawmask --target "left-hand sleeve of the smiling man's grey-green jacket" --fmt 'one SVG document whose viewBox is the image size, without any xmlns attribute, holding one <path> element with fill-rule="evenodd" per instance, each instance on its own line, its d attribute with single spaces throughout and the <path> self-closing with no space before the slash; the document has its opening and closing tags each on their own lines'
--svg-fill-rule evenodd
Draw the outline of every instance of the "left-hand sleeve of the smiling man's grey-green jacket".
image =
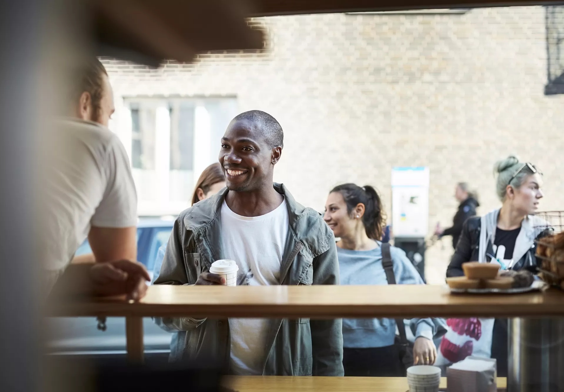
<svg viewBox="0 0 564 392">
<path fill-rule="evenodd" d="M 174 222 L 173 232 L 170 234 L 166 245 L 160 274 L 153 282 L 154 285 L 185 285 L 188 283 L 186 267 L 184 267 L 183 236 L 186 228 L 182 223 L 182 215 Z M 193 319 L 192 317 L 155 317 L 155 324 L 170 332 L 171 330 L 187 331 L 200 326 L 206 319 Z"/>
</svg>

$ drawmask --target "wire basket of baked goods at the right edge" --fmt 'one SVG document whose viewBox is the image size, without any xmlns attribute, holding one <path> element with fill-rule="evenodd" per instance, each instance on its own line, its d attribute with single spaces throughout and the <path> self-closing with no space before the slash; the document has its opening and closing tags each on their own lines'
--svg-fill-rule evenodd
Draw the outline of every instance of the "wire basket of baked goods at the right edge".
<svg viewBox="0 0 564 392">
<path fill-rule="evenodd" d="M 564 211 L 539 212 L 536 216 L 543 223 L 535 228 L 539 232 L 546 230 L 546 236 L 535 241 L 540 276 L 548 284 L 564 289 Z"/>
</svg>

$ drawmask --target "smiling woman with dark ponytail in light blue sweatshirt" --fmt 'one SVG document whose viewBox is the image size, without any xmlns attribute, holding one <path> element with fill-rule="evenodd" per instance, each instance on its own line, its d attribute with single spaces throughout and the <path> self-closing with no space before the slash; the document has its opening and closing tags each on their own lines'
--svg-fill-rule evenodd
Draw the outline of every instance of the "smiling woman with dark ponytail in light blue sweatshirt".
<svg viewBox="0 0 564 392">
<path fill-rule="evenodd" d="M 334 188 L 325 204 L 325 222 L 337 242 L 341 285 L 386 285 L 382 265 L 382 230 L 385 214 L 380 196 L 372 186 L 343 184 Z M 424 284 L 404 251 L 390 247 L 397 284 Z M 402 320 L 403 321 L 403 320 Z M 415 336 L 413 363 L 433 364 L 437 350 L 433 337 L 442 323 L 435 319 L 412 319 Z M 398 325 L 398 328 L 405 328 Z M 403 376 L 398 345 L 394 344 L 393 319 L 344 319 L 343 367 L 345 376 Z M 411 358 L 410 358 L 411 360 Z"/>
</svg>

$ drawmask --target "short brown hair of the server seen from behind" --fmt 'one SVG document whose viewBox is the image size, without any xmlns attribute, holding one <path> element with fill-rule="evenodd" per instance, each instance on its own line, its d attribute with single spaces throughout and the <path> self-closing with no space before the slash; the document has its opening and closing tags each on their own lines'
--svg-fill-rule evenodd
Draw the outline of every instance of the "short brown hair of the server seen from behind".
<svg viewBox="0 0 564 392">
<path fill-rule="evenodd" d="M 89 93 L 92 101 L 93 117 L 98 117 L 100 101 L 104 89 L 103 76 L 108 75 L 100 60 L 95 57 L 88 58 L 82 62 L 74 73 L 72 81 L 72 102 L 77 103 L 82 93 Z"/>
</svg>

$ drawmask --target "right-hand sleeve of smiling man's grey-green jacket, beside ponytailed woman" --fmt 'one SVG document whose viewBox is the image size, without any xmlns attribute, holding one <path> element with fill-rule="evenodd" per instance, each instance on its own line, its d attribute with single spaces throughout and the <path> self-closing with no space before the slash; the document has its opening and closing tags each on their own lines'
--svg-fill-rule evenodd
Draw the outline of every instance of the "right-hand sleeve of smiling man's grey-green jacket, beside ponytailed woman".
<svg viewBox="0 0 564 392">
<path fill-rule="evenodd" d="M 331 230 L 327 228 L 328 230 Z M 329 249 L 313 260 L 314 285 L 338 285 L 339 262 L 332 232 L 327 233 Z M 342 319 L 311 320 L 313 376 L 344 376 Z"/>
</svg>

